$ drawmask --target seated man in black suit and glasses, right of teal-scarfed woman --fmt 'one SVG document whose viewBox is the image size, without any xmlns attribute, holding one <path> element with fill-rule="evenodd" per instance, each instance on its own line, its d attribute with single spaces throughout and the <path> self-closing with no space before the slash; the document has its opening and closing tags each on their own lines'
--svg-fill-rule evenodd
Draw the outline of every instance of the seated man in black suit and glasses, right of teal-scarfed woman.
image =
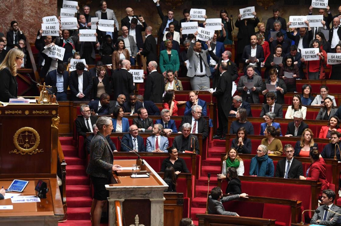
<svg viewBox="0 0 341 226">
<path fill-rule="evenodd" d="M 303 176 L 303 167 L 302 163 L 294 158 L 294 147 L 286 144 L 283 151 L 286 158 L 278 161 L 275 177 L 299 179 L 299 176 Z"/>
</svg>

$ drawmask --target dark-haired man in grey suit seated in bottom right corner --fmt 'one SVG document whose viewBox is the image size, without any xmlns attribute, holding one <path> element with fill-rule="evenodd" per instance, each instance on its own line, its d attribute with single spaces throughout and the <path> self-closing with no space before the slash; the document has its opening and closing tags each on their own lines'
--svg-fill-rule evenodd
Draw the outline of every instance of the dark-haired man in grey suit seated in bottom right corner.
<svg viewBox="0 0 341 226">
<path fill-rule="evenodd" d="M 337 225 L 337 221 L 339 219 L 339 215 L 341 214 L 341 208 L 335 206 L 333 204 L 335 199 L 335 193 L 330 190 L 323 190 L 322 191 L 322 204 L 317 208 L 317 210 L 320 210 L 319 213 L 314 213 L 310 224 L 318 224 L 318 225 Z M 327 209 L 327 210 L 325 210 Z M 333 212 L 336 212 L 338 214 L 335 214 Z"/>
</svg>

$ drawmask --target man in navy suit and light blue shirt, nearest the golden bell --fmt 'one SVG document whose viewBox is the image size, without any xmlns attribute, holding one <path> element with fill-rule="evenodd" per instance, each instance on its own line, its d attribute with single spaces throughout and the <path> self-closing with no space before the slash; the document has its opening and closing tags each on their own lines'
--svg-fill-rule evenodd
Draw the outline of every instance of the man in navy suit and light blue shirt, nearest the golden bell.
<svg viewBox="0 0 341 226">
<path fill-rule="evenodd" d="M 65 71 L 64 64 L 59 63 L 56 70 L 50 71 L 46 75 L 45 84 L 57 87 L 55 92 L 57 101 L 68 101 L 66 91 L 69 86 L 69 72 Z"/>
</svg>

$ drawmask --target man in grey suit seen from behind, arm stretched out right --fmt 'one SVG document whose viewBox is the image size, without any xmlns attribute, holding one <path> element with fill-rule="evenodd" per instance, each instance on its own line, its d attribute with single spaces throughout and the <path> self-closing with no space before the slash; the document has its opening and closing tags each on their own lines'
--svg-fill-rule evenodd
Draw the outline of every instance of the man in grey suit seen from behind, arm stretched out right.
<svg viewBox="0 0 341 226">
<path fill-rule="evenodd" d="M 232 201 L 239 199 L 240 197 L 249 198 L 248 194 L 246 193 L 223 197 L 223 192 L 221 191 L 220 187 L 213 187 L 211 190 L 211 195 L 208 196 L 208 214 L 239 216 L 236 212 L 225 211 L 222 202 Z"/>
</svg>

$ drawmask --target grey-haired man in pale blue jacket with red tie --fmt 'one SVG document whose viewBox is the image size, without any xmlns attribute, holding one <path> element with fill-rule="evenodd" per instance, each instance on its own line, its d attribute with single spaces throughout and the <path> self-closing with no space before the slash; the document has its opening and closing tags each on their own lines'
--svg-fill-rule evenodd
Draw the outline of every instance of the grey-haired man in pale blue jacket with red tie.
<svg viewBox="0 0 341 226">
<path fill-rule="evenodd" d="M 163 126 L 155 124 L 153 127 L 153 135 L 147 138 L 147 152 L 168 152 L 168 138 L 163 135 Z"/>
</svg>

